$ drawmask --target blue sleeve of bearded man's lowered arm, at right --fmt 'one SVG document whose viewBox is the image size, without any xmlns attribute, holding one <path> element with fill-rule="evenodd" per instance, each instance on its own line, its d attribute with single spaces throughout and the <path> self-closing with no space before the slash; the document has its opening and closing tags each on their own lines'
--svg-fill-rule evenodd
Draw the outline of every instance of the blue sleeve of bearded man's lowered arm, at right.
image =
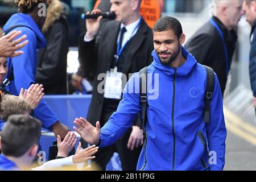
<svg viewBox="0 0 256 182">
<path fill-rule="evenodd" d="M 211 171 L 221 171 L 225 164 L 226 126 L 220 84 L 215 74 L 214 91 L 210 101 L 210 122 L 206 123 Z M 215 155 L 216 154 L 216 155 Z M 216 160 L 214 159 L 215 157 Z"/>
</svg>

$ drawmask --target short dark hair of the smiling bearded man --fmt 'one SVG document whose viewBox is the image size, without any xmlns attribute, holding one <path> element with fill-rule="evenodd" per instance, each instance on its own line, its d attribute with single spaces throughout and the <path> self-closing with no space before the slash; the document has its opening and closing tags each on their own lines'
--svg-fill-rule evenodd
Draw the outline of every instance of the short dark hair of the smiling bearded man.
<svg viewBox="0 0 256 182">
<path fill-rule="evenodd" d="M 179 39 L 181 34 L 183 34 L 181 24 L 179 20 L 172 16 L 164 16 L 156 21 L 153 32 L 163 32 L 163 31 L 174 31 L 174 34 Z"/>
</svg>

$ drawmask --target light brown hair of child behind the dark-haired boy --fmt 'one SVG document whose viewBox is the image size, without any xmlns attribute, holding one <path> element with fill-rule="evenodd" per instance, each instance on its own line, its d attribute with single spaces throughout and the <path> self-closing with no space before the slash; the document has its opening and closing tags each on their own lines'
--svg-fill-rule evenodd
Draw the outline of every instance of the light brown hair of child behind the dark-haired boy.
<svg viewBox="0 0 256 182">
<path fill-rule="evenodd" d="M 25 114 L 32 111 L 31 105 L 18 96 L 3 94 L 0 96 L 0 118 L 7 121 L 13 114 Z"/>
</svg>

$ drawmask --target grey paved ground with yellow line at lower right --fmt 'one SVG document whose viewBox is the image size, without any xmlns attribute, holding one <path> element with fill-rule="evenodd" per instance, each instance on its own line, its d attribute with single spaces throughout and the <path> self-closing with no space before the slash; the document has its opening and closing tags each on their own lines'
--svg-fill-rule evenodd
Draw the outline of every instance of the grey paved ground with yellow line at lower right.
<svg viewBox="0 0 256 182">
<path fill-rule="evenodd" d="M 226 113 L 225 120 L 228 136 L 224 170 L 256 171 L 256 126 L 239 118 L 227 117 Z"/>
</svg>

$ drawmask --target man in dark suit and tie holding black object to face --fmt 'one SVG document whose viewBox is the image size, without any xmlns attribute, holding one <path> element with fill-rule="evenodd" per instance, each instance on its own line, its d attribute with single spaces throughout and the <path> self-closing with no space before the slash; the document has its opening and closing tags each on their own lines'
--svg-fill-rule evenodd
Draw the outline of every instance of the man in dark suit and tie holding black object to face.
<svg viewBox="0 0 256 182">
<path fill-rule="evenodd" d="M 151 52 L 154 49 L 152 30 L 139 15 L 141 0 L 110 2 L 110 11 L 115 13 L 116 18 L 115 21 L 106 22 L 102 27 L 98 46 L 94 44 L 101 16 L 98 19 L 86 20 L 87 32 L 81 36 L 79 45 L 80 70 L 84 73 L 83 77 L 89 77 L 87 74 L 94 76 L 93 96 L 87 118 L 93 125 L 100 121 L 101 126 L 108 121 L 121 100 L 119 91 L 122 88 L 118 89 L 118 86 L 108 82 L 112 78 L 115 82 L 119 80 L 118 77 L 111 77 L 111 73 L 112 76 L 121 73 L 127 78 L 129 73 L 138 72 L 151 63 Z M 100 12 L 93 10 L 92 14 Z M 106 74 L 107 72 L 110 74 Z M 105 75 L 103 81 L 101 75 Z M 125 85 L 124 80 L 121 85 Z M 104 89 L 101 87 L 102 84 Z M 117 92 L 109 91 L 112 88 Z M 115 144 L 100 148 L 96 154 L 96 162 L 105 169 L 113 152 L 117 151 L 122 169 L 135 170 L 143 143 L 142 134 L 143 131 L 134 124 Z"/>
</svg>

